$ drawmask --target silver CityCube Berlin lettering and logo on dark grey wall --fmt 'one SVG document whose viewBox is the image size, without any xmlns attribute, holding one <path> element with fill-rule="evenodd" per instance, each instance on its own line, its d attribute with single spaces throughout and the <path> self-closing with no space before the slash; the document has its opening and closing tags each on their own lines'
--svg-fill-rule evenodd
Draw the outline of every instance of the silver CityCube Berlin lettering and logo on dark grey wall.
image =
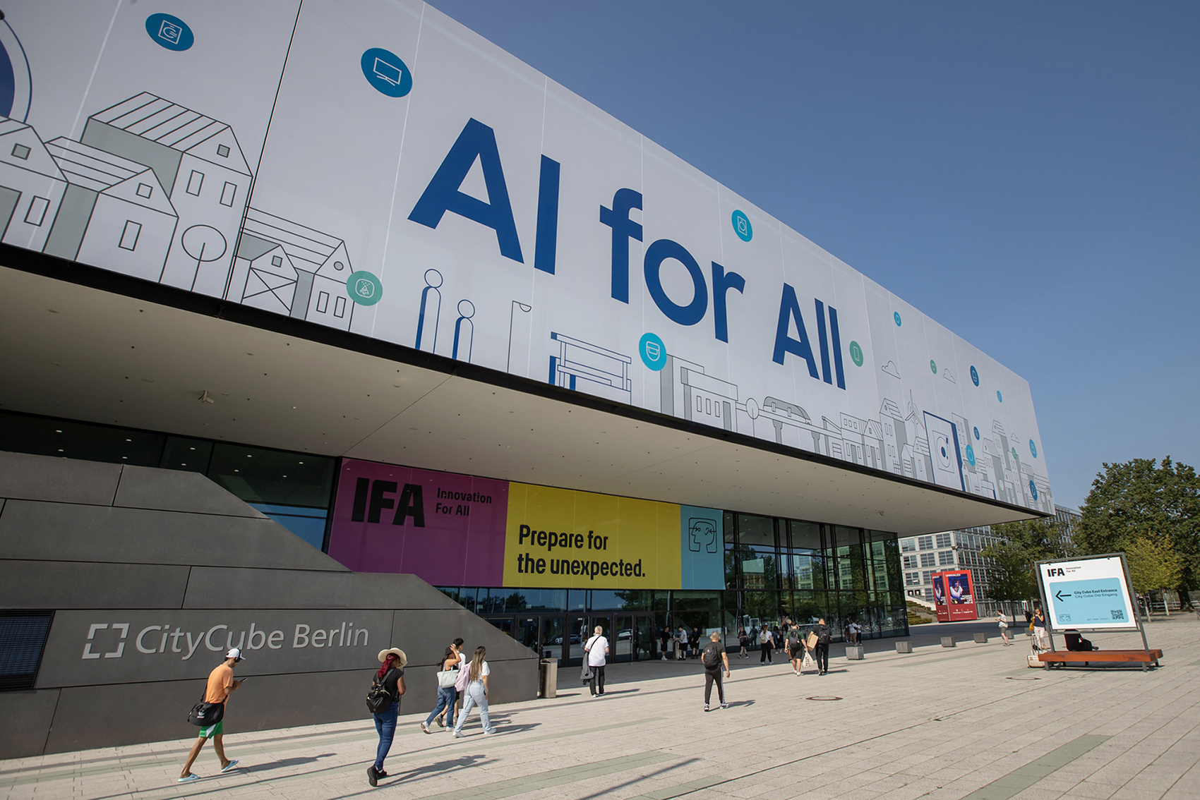
<svg viewBox="0 0 1200 800">
<path fill-rule="evenodd" d="M 133 650 L 143 655 L 158 655 L 178 652 L 181 661 L 190 660 L 196 655 L 200 645 L 212 652 L 227 652 L 232 648 L 240 650 L 282 650 L 289 646 L 292 650 L 307 648 L 360 648 L 371 643 L 371 632 L 354 622 L 347 620 L 337 627 L 324 628 L 313 627 L 306 622 L 298 622 L 294 628 L 288 626 L 290 636 L 283 630 L 268 630 L 258 627 L 257 622 L 251 622 L 248 627 L 235 631 L 224 624 L 212 625 L 200 628 L 194 633 L 172 625 L 148 625 L 133 637 Z M 109 632 L 109 633 L 106 633 Z M 114 636 L 116 634 L 116 636 Z M 88 638 L 83 645 L 82 660 L 92 658 L 120 658 L 125 651 L 125 645 L 130 638 L 130 622 L 92 622 L 88 627 Z M 92 645 L 100 648 L 92 650 Z M 110 648 L 104 650 L 103 648 Z"/>
</svg>

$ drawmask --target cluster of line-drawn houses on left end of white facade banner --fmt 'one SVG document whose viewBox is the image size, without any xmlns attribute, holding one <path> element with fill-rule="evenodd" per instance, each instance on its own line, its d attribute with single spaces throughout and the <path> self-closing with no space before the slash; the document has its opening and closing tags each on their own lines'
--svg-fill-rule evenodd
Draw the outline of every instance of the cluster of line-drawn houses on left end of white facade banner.
<svg viewBox="0 0 1200 800">
<path fill-rule="evenodd" d="M 149 92 L 79 142 L 0 118 L 6 243 L 349 330 L 346 242 L 248 206 L 251 179 L 228 125 Z"/>
</svg>

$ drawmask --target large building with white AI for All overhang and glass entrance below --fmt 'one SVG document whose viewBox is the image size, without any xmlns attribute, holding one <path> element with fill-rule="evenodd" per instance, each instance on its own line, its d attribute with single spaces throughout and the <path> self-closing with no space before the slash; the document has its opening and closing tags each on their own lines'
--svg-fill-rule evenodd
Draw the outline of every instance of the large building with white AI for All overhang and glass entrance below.
<svg viewBox="0 0 1200 800">
<path fill-rule="evenodd" d="M 902 634 L 901 540 L 1054 513 L 1024 379 L 419 0 L 5 14 L 0 450 L 198 473 L 568 661 Z"/>
</svg>

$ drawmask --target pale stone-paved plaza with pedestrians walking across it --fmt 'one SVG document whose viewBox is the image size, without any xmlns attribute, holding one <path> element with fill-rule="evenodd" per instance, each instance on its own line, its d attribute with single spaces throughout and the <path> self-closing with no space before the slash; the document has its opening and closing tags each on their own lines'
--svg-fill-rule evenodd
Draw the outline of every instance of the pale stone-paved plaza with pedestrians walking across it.
<svg viewBox="0 0 1200 800">
<path fill-rule="evenodd" d="M 990 634 L 986 644 L 971 639 Z M 943 649 L 938 636 L 959 644 Z M 758 654 L 731 658 L 731 708 L 702 711 L 701 667 L 649 662 L 608 668 L 606 697 L 592 699 L 575 669 L 558 697 L 494 706 L 499 735 L 472 715 L 464 739 L 426 735 L 404 708 L 372 789 L 370 718 L 240 733 L 229 705 L 226 751 L 239 769 L 218 775 L 206 746 L 175 782 L 194 729 L 187 705 L 180 739 L 0 762 L 5 798 L 236 798 L 319 800 L 378 793 L 445 800 L 529 798 L 1200 798 L 1200 621 L 1194 614 L 1147 626 L 1164 650 L 1160 669 L 1030 669 L 1028 644 L 1003 648 L 982 622 L 913 628 L 912 654 L 895 639 L 866 642 L 866 658 L 830 648 L 828 675 L 797 678 Z M 965 640 L 964 640 L 965 639 Z M 1140 648 L 1136 634 L 1094 634 L 1105 648 Z M 469 643 L 468 643 L 469 644 Z M 1060 640 L 1061 646 L 1061 640 Z M 370 675 L 364 669 L 364 693 Z M 246 691 L 253 691 L 253 682 Z M 838 698 L 838 699 L 834 699 Z M 302 702 L 302 698 L 298 698 Z M 715 697 L 714 697 L 715 706 Z M 120 724 L 119 720 L 97 724 Z"/>
</svg>

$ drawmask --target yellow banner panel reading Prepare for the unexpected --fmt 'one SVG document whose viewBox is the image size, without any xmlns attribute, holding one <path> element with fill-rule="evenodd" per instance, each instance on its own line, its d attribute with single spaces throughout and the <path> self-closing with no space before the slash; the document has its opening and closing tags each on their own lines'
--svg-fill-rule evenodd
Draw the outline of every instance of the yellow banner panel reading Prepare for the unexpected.
<svg viewBox="0 0 1200 800">
<path fill-rule="evenodd" d="M 509 483 L 504 585 L 679 589 L 679 506 Z"/>
</svg>

